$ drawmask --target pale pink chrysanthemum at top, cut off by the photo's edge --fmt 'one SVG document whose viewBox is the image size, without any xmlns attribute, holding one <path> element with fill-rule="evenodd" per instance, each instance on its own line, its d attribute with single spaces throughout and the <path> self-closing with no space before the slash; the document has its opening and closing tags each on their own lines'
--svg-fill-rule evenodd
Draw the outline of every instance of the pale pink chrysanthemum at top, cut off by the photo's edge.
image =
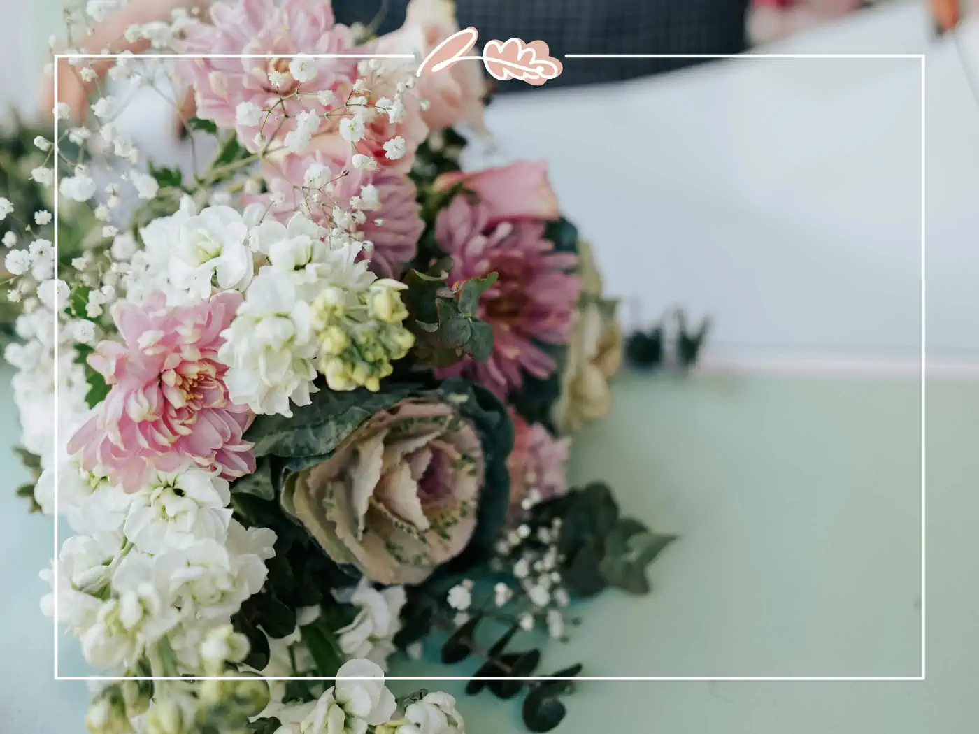
<svg viewBox="0 0 979 734">
<path fill-rule="evenodd" d="M 242 0 L 218 2 L 210 8 L 211 23 L 190 25 L 179 44 L 187 54 L 343 54 L 352 51 L 350 28 L 334 22 L 328 2 L 307 0 Z M 279 101 L 279 93 L 268 80 L 268 72 L 286 75 L 283 95 L 294 92 L 298 83 L 289 73 L 290 59 L 193 59 L 181 61 L 181 75 L 194 84 L 197 93 L 197 115 L 212 119 L 219 127 L 237 129 L 242 144 L 256 151 L 254 138 L 261 124 L 247 125 L 237 120 L 238 105 L 254 104 L 259 110 L 270 109 Z M 316 75 L 305 88 L 310 91 L 339 91 L 350 88 L 356 78 L 356 59 L 311 60 Z M 281 138 L 295 129 L 296 115 L 303 111 L 322 115 L 323 107 L 314 96 L 286 100 L 283 121 L 282 106 L 276 119 L 268 120 L 263 134 Z M 280 125 L 280 122 L 282 123 Z M 277 130 L 277 132 L 276 132 Z"/>
</svg>

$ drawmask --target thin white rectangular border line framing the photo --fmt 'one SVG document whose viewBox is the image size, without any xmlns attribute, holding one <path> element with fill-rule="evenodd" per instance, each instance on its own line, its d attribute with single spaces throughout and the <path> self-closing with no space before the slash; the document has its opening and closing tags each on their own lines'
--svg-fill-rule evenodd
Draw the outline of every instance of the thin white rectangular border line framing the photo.
<svg viewBox="0 0 979 734">
<path fill-rule="evenodd" d="M 58 94 L 58 71 L 62 59 L 117 59 L 122 54 L 55 54 L 54 55 L 54 88 L 55 105 L 57 106 Z M 148 59 L 271 59 L 271 58 L 292 58 L 303 56 L 309 58 L 330 59 L 330 58 L 362 58 L 362 59 L 414 59 L 410 54 L 141 54 Z M 924 54 L 565 54 L 565 59 L 737 59 L 737 60 L 763 60 L 763 59 L 916 59 L 920 65 L 921 73 L 921 673 L 920 675 L 583 675 L 574 678 L 560 677 L 552 675 L 532 675 L 526 680 L 545 681 L 545 680 L 626 680 L 626 681 L 923 681 L 925 680 L 925 609 L 927 607 L 925 593 L 925 510 L 926 510 L 926 481 L 925 481 L 925 338 L 926 338 L 926 308 L 925 308 L 925 241 L 926 241 L 926 196 L 925 196 L 925 94 L 926 86 L 926 62 Z M 55 267 L 58 267 L 58 115 L 54 115 L 54 246 L 55 246 Z M 56 276 L 57 277 L 57 271 Z M 58 332 L 58 314 L 55 314 L 55 333 Z M 58 385 L 58 343 L 55 342 L 54 360 L 54 380 Z M 55 390 L 55 445 L 60 445 L 58 436 L 58 390 Z M 59 660 L 59 636 L 61 630 L 58 624 L 58 555 L 61 550 L 61 542 L 58 532 L 58 495 L 59 478 L 58 463 L 54 469 L 55 481 L 55 501 L 54 501 L 54 581 L 53 592 L 55 597 L 54 604 L 54 673 L 55 680 L 90 680 L 90 681 L 118 681 L 118 680 L 250 680 L 250 676 L 239 675 L 211 675 L 199 677 L 168 677 L 168 676 L 121 676 L 121 675 L 60 675 L 58 672 Z M 268 680 L 316 680 L 304 676 L 268 676 Z M 332 678 L 324 678 L 332 680 Z M 392 675 L 386 676 L 387 680 L 459 680 L 468 681 L 479 680 L 507 680 L 505 676 L 473 676 L 467 675 L 432 675 L 425 677 Z"/>
</svg>

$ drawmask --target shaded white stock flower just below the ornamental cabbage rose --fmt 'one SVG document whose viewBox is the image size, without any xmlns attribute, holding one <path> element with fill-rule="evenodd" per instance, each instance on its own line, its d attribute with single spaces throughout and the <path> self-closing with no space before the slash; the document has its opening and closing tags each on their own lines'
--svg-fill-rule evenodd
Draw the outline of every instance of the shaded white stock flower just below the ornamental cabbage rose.
<svg viewBox="0 0 979 734">
<path fill-rule="evenodd" d="M 404 587 L 389 586 L 379 591 L 366 576 L 361 576 L 354 588 L 339 592 L 337 598 L 349 601 L 359 610 L 350 624 L 337 630 L 344 655 L 365 658 L 387 669 L 388 656 L 395 652 L 393 638 L 401 626 Z"/>
</svg>

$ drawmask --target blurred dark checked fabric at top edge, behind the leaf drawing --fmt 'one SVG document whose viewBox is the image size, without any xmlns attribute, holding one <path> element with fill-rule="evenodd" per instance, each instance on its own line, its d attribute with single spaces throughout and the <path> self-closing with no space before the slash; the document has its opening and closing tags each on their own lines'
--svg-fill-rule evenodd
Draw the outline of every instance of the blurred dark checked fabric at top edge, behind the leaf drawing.
<svg viewBox="0 0 979 734">
<path fill-rule="evenodd" d="M 678 69 L 691 59 L 564 59 L 565 54 L 736 54 L 745 49 L 749 0 L 456 0 L 459 25 L 480 39 L 540 39 L 564 64 L 548 87 L 589 84 Z M 340 23 L 370 23 L 386 5 L 379 33 L 404 21 L 407 0 L 333 0 Z M 515 82 L 498 91 L 534 87 Z"/>
</svg>

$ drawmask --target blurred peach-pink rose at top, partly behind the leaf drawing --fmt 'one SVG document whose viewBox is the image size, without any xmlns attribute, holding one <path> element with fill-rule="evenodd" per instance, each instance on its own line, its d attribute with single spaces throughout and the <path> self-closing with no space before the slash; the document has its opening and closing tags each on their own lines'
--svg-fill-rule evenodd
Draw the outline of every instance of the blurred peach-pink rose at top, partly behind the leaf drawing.
<svg viewBox="0 0 979 734">
<path fill-rule="evenodd" d="M 454 4 L 450 0 L 411 0 L 404 24 L 381 36 L 377 49 L 382 53 L 417 54 L 424 59 L 443 40 L 459 29 Z M 473 54 L 479 50 L 474 49 Z M 414 93 L 428 100 L 422 119 L 433 130 L 464 122 L 482 130 L 483 97 L 486 84 L 483 65 L 478 62 L 454 64 L 440 73 L 422 74 Z"/>
</svg>

